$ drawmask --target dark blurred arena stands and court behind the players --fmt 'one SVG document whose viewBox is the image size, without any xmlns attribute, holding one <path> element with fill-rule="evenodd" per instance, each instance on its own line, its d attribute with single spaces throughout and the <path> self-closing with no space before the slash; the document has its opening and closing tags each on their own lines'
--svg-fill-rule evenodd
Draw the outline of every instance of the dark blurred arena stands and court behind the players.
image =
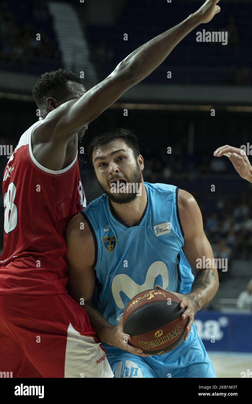
<svg viewBox="0 0 252 404">
<path fill-rule="evenodd" d="M 85 88 L 106 78 L 129 53 L 165 32 L 203 1 L 3 1 L 0 5 L 0 168 L 34 122 L 32 88 L 63 69 Z M 150 76 L 89 124 L 78 161 L 87 204 L 102 194 L 86 151 L 93 135 L 130 128 L 144 157 L 144 181 L 190 192 L 201 209 L 218 269 L 214 299 L 195 318 L 217 377 L 252 377 L 252 184 L 229 158 L 231 145 L 252 156 L 252 1 L 224 0 L 221 13 L 194 29 Z M 197 42 L 196 32 L 228 33 L 228 43 Z M 36 35 L 40 34 L 40 40 Z M 125 40 L 127 34 L 127 40 Z M 29 195 L 27 195 L 29 198 Z M 4 204 L 0 229 L 3 244 Z M 38 216 L 39 216 L 38 212 Z M 36 221 L 36 217 L 34 217 Z M 234 383 L 235 384 L 235 383 Z"/>
</svg>

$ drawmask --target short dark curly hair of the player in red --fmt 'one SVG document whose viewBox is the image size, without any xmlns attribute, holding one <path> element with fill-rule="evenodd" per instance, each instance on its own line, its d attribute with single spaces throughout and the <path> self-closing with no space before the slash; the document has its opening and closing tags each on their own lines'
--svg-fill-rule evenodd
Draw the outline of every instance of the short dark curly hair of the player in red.
<svg viewBox="0 0 252 404">
<path fill-rule="evenodd" d="M 82 84 L 80 77 L 70 70 L 58 69 L 42 74 L 32 90 L 32 97 L 38 108 L 44 109 L 48 97 L 53 97 L 57 101 L 68 101 L 71 93 L 66 83 L 69 80 Z"/>
</svg>

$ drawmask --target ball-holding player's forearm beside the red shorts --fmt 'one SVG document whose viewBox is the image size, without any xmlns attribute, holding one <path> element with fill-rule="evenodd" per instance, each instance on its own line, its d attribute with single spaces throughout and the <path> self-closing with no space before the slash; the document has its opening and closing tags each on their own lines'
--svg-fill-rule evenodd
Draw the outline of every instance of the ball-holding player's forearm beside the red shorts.
<svg viewBox="0 0 252 404">
<path fill-rule="evenodd" d="M 91 302 L 85 302 L 84 309 L 87 311 L 90 324 L 95 329 L 97 337 L 100 341 L 108 343 L 107 332 L 112 330 L 114 326 L 102 316 L 100 311 L 93 307 Z"/>
</svg>

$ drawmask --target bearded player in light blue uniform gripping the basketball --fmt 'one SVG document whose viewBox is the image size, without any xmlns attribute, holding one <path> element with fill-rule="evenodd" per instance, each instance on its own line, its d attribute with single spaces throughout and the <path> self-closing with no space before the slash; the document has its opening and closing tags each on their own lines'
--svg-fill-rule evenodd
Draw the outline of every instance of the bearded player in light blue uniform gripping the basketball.
<svg viewBox="0 0 252 404">
<path fill-rule="evenodd" d="M 214 258 L 197 202 L 174 185 L 144 182 L 130 130 L 100 133 L 88 154 L 104 194 L 68 225 L 69 293 L 84 299 L 115 377 L 216 377 L 193 324 L 218 289 L 215 267 L 197 269 L 197 260 Z M 130 299 L 155 286 L 181 299 L 188 324 L 176 349 L 151 356 L 130 344 L 121 318 Z"/>
</svg>

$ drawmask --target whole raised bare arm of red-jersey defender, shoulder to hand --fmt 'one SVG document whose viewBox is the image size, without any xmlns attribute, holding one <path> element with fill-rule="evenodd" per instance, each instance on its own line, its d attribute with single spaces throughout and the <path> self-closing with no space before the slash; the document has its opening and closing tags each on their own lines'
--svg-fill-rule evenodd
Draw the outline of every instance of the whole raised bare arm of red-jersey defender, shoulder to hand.
<svg viewBox="0 0 252 404">
<path fill-rule="evenodd" d="M 100 84 L 91 88 L 80 99 L 70 100 L 47 118 L 49 132 L 56 141 L 69 141 L 85 124 L 93 121 L 118 100 L 125 91 L 155 70 L 172 49 L 195 27 L 210 21 L 220 7 L 220 0 L 207 0 L 201 8 L 182 23 L 153 38 L 127 56 Z"/>
</svg>

